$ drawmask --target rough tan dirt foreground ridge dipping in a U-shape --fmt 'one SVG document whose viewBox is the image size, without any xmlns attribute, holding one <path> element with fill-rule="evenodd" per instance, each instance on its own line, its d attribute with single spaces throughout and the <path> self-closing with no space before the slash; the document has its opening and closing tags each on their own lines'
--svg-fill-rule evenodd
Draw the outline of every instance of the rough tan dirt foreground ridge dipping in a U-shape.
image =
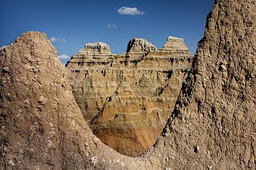
<svg viewBox="0 0 256 170">
<path fill-rule="evenodd" d="M 45 35 L 20 36 L 0 56 L 0 168 L 255 169 L 255 7 L 215 3 L 176 109 L 139 158 L 95 138 Z"/>
</svg>

